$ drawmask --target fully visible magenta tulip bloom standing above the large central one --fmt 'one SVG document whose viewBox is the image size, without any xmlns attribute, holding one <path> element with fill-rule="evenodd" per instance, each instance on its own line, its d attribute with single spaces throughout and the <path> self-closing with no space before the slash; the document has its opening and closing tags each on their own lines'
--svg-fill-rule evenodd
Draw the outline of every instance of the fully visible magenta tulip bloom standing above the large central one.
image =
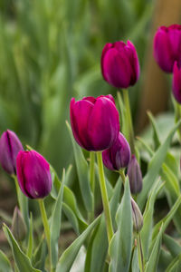
<svg viewBox="0 0 181 272">
<path fill-rule="evenodd" d="M 116 88 L 137 83 L 139 63 L 135 46 L 129 41 L 106 44 L 101 54 L 101 72 L 105 81 Z"/>
</svg>

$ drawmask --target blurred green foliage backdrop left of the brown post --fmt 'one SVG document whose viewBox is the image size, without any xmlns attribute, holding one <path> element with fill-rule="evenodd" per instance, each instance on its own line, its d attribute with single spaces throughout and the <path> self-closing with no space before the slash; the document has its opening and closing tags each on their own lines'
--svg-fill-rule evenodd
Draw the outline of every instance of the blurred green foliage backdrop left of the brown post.
<svg viewBox="0 0 181 272">
<path fill-rule="evenodd" d="M 0 132 L 7 128 L 60 174 L 72 160 L 71 96 L 112 93 L 100 73 L 104 44 L 131 40 L 143 66 L 151 0 L 1 0 Z M 140 83 L 131 88 L 133 113 Z M 133 114 L 135 116 L 135 114 Z"/>
</svg>

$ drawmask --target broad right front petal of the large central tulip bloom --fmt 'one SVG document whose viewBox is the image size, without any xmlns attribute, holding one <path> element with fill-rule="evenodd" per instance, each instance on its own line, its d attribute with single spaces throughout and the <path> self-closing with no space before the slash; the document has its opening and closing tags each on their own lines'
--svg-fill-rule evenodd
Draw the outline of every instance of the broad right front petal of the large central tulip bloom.
<svg viewBox="0 0 181 272">
<path fill-rule="evenodd" d="M 119 112 L 109 98 L 100 97 L 90 113 L 88 135 L 92 151 L 108 149 L 119 135 Z"/>
</svg>

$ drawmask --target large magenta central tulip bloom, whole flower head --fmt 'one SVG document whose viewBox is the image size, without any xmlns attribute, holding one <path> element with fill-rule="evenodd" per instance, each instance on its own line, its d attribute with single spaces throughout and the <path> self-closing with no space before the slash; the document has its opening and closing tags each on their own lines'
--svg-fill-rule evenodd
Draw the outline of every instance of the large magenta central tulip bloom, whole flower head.
<svg viewBox="0 0 181 272">
<path fill-rule="evenodd" d="M 119 112 L 111 95 L 71 99 L 71 130 L 87 151 L 104 151 L 119 136 Z"/>
</svg>

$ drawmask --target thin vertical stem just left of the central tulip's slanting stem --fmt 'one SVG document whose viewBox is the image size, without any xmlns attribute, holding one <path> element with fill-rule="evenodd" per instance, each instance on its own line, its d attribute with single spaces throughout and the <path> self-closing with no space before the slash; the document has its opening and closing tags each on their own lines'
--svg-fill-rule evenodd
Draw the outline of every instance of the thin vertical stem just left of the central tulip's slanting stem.
<svg viewBox="0 0 181 272">
<path fill-rule="evenodd" d="M 90 188 L 93 195 L 94 201 L 94 192 L 95 192 L 95 152 L 90 152 Z M 94 219 L 94 202 L 92 205 L 92 211 L 89 214 L 89 222 Z"/>
</svg>

